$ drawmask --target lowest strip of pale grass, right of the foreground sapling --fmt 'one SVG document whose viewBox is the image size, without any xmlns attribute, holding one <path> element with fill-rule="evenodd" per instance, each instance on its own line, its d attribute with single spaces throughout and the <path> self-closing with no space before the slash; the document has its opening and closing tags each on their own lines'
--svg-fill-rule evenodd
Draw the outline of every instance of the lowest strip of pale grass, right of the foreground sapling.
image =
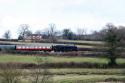
<svg viewBox="0 0 125 83">
<path fill-rule="evenodd" d="M 64 75 L 55 76 L 55 83 L 95 83 L 106 79 L 124 80 L 125 76 L 118 75 Z M 118 82 L 119 83 L 119 82 Z"/>
</svg>

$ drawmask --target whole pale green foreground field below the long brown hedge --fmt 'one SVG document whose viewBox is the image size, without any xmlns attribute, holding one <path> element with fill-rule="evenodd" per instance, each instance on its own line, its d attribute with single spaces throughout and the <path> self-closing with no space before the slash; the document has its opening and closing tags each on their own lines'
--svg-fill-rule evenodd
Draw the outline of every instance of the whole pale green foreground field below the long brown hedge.
<svg viewBox="0 0 125 83">
<path fill-rule="evenodd" d="M 31 83 L 28 79 L 33 78 L 34 69 L 24 69 L 23 83 Z M 54 83 L 96 83 L 108 80 L 124 81 L 125 69 L 86 69 L 86 68 L 61 68 L 49 69 L 53 74 Z M 119 83 L 119 82 L 118 82 Z"/>
</svg>

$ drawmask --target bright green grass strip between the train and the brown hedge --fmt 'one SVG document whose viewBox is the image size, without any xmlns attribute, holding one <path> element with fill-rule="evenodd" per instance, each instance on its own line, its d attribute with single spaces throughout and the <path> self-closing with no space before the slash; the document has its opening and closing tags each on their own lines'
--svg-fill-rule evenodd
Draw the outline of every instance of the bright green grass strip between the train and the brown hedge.
<svg viewBox="0 0 125 83">
<path fill-rule="evenodd" d="M 58 62 L 88 62 L 88 63 L 100 63 L 107 64 L 108 59 L 106 58 L 91 58 L 91 57 L 62 57 L 62 56 L 40 56 L 41 58 L 46 58 L 50 63 L 58 63 Z M 29 55 L 11 55 L 11 54 L 3 54 L 0 55 L 0 62 L 24 62 L 24 63 L 35 63 L 36 56 Z M 125 59 L 117 59 L 118 64 L 124 64 Z"/>
</svg>

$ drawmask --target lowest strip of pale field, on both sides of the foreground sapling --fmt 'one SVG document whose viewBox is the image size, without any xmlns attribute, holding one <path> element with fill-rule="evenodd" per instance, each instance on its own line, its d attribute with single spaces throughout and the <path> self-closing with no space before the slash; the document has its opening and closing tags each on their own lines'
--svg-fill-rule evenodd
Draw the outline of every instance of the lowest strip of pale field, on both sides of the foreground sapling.
<svg viewBox="0 0 125 83">
<path fill-rule="evenodd" d="M 23 78 L 23 83 L 31 83 L 28 79 L 32 78 L 31 76 L 25 76 Z M 107 80 L 116 80 L 115 82 Z M 97 82 L 104 82 L 106 83 L 124 83 L 125 76 L 123 75 L 55 75 L 53 76 L 54 83 L 97 83 Z"/>
</svg>

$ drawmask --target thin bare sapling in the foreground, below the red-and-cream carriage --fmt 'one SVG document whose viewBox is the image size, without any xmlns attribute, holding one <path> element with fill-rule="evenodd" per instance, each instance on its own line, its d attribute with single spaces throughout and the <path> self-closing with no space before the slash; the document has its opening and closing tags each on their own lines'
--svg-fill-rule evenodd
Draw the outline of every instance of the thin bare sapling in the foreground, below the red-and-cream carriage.
<svg viewBox="0 0 125 83">
<path fill-rule="evenodd" d="M 39 56 L 35 59 L 37 68 L 34 70 L 34 81 L 33 83 L 53 83 L 52 74 L 49 72 L 46 64 L 48 63 L 47 58 L 41 58 Z M 44 66 L 41 67 L 41 64 Z"/>
</svg>

